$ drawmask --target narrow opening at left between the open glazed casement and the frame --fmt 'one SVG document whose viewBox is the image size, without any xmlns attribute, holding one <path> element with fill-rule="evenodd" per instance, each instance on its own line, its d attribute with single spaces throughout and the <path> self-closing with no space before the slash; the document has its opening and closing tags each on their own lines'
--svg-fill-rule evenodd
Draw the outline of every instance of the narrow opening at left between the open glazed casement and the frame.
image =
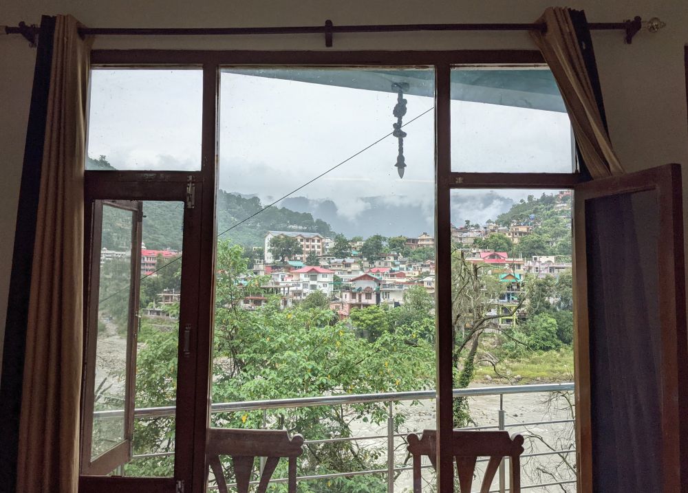
<svg viewBox="0 0 688 493">
<path fill-rule="evenodd" d="M 126 476 L 173 476 L 184 203 L 144 201 L 133 456 Z"/>
</svg>

